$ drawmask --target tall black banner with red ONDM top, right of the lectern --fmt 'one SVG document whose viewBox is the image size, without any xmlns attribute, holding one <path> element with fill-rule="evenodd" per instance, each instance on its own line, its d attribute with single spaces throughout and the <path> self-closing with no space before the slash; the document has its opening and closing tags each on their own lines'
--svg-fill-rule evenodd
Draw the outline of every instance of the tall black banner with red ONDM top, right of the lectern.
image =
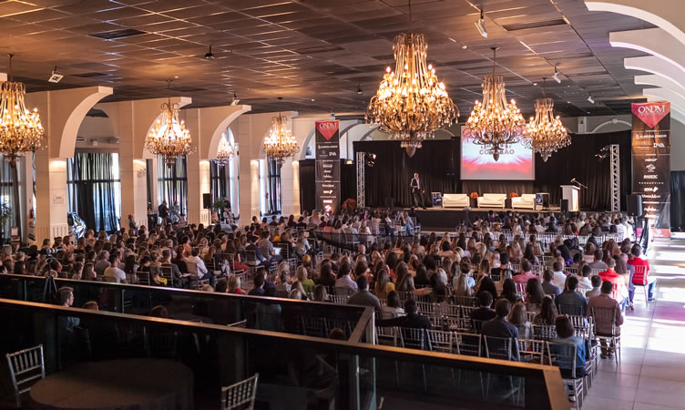
<svg viewBox="0 0 685 410">
<path fill-rule="evenodd" d="M 670 238 L 670 103 L 631 104 L 633 194 L 652 220 L 654 238 Z"/>
</svg>

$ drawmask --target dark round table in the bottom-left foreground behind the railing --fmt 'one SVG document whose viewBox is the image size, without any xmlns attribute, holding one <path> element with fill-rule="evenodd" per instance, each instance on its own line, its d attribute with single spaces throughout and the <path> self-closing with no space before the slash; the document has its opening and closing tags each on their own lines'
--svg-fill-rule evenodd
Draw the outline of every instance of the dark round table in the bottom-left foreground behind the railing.
<svg viewBox="0 0 685 410">
<path fill-rule="evenodd" d="M 158 359 L 122 359 L 78 364 L 31 387 L 36 408 L 194 408 L 189 367 Z"/>
</svg>

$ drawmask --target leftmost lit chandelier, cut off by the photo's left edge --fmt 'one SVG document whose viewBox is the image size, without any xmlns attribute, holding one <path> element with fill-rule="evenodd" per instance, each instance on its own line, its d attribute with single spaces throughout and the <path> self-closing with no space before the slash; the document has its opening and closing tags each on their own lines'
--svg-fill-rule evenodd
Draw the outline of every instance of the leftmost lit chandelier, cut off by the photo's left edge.
<svg viewBox="0 0 685 410">
<path fill-rule="evenodd" d="M 26 86 L 13 81 L 12 57 L 9 55 L 9 81 L 0 86 L 0 153 L 15 166 L 25 152 L 40 148 L 45 130 L 40 123 L 38 110 L 29 111 L 24 103 Z"/>
</svg>

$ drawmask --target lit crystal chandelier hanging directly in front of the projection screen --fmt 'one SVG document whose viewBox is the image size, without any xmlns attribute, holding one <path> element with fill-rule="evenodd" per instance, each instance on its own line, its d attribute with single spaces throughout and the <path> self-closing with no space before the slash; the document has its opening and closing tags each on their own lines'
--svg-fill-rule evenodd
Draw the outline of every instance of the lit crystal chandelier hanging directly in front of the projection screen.
<svg viewBox="0 0 685 410">
<path fill-rule="evenodd" d="M 525 138 L 526 120 L 516 107 L 516 101 L 506 102 L 505 78 L 495 75 L 496 47 L 493 50 L 493 74 L 483 77 L 483 103 L 475 101 L 471 117 L 466 121 L 464 138 L 492 152 L 495 160 L 506 145 Z"/>
</svg>

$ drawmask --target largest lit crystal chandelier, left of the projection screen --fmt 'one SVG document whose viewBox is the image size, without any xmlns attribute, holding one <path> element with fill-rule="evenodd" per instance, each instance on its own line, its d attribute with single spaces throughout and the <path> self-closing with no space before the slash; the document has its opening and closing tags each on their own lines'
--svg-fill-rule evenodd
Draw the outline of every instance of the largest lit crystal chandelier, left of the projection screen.
<svg viewBox="0 0 685 410">
<path fill-rule="evenodd" d="M 412 17 L 409 2 L 409 20 Z M 387 67 L 376 95 L 366 108 L 366 122 L 380 124 L 383 132 L 402 141 L 402 148 L 413 155 L 435 129 L 449 126 L 459 116 L 447 94 L 445 83 L 438 81 L 435 68 L 426 64 L 428 42 L 422 34 L 394 37 L 394 71 Z"/>
</svg>

